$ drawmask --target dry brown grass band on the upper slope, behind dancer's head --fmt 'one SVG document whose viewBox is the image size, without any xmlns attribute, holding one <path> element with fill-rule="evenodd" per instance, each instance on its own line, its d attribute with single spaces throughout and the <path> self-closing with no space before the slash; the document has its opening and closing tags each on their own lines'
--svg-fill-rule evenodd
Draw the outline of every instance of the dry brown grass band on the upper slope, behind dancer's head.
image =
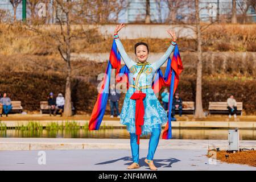
<svg viewBox="0 0 256 182">
<path fill-rule="evenodd" d="M 48 27 L 49 32 L 56 28 Z M 109 52 L 112 37 L 105 39 L 103 36 L 95 38 L 95 31 L 89 31 L 85 38 L 77 39 L 72 43 L 72 52 Z M 0 54 L 1 55 L 49 55 L 57 53 L 56 42 L 48 36 L 39 36 L 35 32 L 15 24 L 8 26 L 0 24 Z M 134 44 L 146 42 L 150 52 L 164 52 L 170 40 L 168 39 L 133 39 L 122 40 L 127 52 L 134 52 Z M 203 34 L 204 51 L 256 51 L 256 24 L 210 26 Z M 163 46 L 164 45 L 164 46 Z M 191 39 L 179 39 L 181 51 L 196 51 L 196 43 Z"/>
</svg>

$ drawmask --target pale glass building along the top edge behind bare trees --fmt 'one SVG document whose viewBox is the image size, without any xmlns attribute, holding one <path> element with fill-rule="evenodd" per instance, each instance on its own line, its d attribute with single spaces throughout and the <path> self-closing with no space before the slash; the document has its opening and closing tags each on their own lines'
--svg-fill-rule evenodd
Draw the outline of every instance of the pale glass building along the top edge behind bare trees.
<svg viewBox="0 0 256 182">
<path fill-rule="evenodd" d="M 80 1 L 80 0 L 73 0 Z M 120 1 L 120 0 L 117 0 Z M 180 0 L 150 0 L 150 22 L 151 23 L 172 23 L 170 21 L 171 10 L 170 4 L 168 6 L 168 2 L 174 3 Z M 54 0 L 50 0 L 51 4 Z M 146 17 L 146 0 L 127 0 L 129 6 L 126 9 L 120 11 L 118 16 L 118 21 L 123 23 L 142 23 Z M 193 2 L 193 1 L 188 1 Z M 242 11 L 241 6 L 239 6 L 237 1 L 237 16 L 238 19 L 241 17 Z M 175 13 L 174 19 L 179 22 L 179 20 L 183 20 L 183 22 L 187 22 L 186 14 L 190 14 L 189 8 L 186 3 L 182 6 L 178 7 Z M 232 0 L 201 0 L 200 1 L 200 18 L 203 21 L 214 21 L 217 19 L 225 19 L 229 20 L 232 15 Z M 11 5 L 9 0 L 1 0 L 0 1 L 0 13 L 5 13 L 9 17 L 13 17 L 13 6 Z M 48 13 L 52 14 L 52 18 L 48 21 L 48 23 L 57 23 L 58 20 L 56 15 L 53 13 L 55 10 L 52 9 L 52 6 L 48 6 Z M 61 9 L 57 9 L 57 14 L 59 18 L 63 18 L 61 15 Z M 0 15 L 1 15 L 0 14 Z M 29 13 L 27 12 L 27 17 L 29 18 Z M 256 22 L 256 14 L 255 7 L 250 6 L 246 13 L 246 21 L 247 22 Z M 2 18 L 2 17 L 1 17 Z M 19 4 L 16 10 L 16 19 L 22 19 L 22 3 Z M 184 21 L 185 20 L 185 21 Z M 239 21 L 238 21 L 239 22 Z M 241 21 L 240 21 L 241 22 Z"/>
</svg>

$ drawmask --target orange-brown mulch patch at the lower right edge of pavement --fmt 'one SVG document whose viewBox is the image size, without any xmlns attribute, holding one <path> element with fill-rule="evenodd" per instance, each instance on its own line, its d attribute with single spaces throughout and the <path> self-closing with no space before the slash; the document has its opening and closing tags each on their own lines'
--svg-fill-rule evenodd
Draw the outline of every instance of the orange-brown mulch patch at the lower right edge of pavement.
<svg viewBox="0 0 256 182">
<path fill-rule="evenodd" d="M 207 155 L 208 157 L 212 155 Z M 236 153 L 229 153 L 226 151 L 217 152 L 217 160 L 226 163 L 246 164 L 256 167 L 256 151 L 241 151 Z"/>
</svg>

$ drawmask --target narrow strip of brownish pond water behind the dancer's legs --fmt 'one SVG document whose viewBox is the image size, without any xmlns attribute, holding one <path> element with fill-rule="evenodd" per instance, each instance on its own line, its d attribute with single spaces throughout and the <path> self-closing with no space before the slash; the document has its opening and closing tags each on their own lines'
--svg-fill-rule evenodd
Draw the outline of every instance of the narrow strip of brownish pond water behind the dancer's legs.
<svg viewBox="0 0 256 182">
<path fill-rule="evenodd" d="M 256 130 L 240 129 L 241 140 L 256 140 Z M 117 138 L 128 139 L 129 133 L 126 129 L 101 129 L 88 131 L 88 129 L 77 130 L 0 130 L 0 137 L 15 138 Z M 228 139 L 228 129 L 172 129 L 173 139 Z M 150 138 L 150 135 L 142 138 Z"/>
</svg>

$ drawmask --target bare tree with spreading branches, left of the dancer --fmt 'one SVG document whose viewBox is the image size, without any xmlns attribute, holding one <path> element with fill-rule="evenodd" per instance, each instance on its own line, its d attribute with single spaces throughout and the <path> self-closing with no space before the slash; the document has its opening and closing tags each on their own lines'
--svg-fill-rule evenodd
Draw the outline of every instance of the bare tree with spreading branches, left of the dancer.
<svg viewBox="0 0 256 182">
<path fill-rule="evenodd" d="M 59 54 L 65 62 L 65 117 L 72 115 L 71 109 L 71 80 L 72 80 L 72 67 L 71 67 L 71 52 L 72 41 L 77 39 L 85 39 L 87 34 L 82 24 L 86 20 L 91 20 L 88 15 L 83 13 L 92 4 L 90 1 L 77 2 L 72 0 L 55 0 L 53 5 L 55 10 L 55 18 L 57 23 L 55 28 L 47 27 L 44 19 L 35 18 L 31 19 L 30 24 L 26 24 L 28 30 L 38 33 L 40 36 L 49 37 L 52 39 L 52 46 L 55 46 Z M 50 15 L 48 15 L 50 16 Z M 71 25 L 76 25 L 71 28 Z M 77 26 L 78 25 L 78 26 Z"/>
</svg>

